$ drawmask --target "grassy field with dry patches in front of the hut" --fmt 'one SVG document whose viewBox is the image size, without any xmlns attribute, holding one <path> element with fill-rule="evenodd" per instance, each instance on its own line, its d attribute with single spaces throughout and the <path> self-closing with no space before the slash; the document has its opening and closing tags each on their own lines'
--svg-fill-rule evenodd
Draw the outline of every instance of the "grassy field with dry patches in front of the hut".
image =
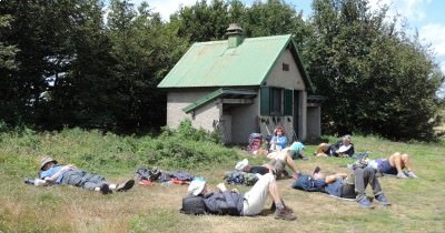
<svg viewBox="0 0 445 233">
<path fill-rule="evenodd" d="M 356 151 L 369 151 L 372 158 L 384 158 L 395 151 L 409 153 L 419 179 L 382 178 L 382 186 L 393 205 L 377 205 L 375 210 L 364 210 L 355 202 L 338 201 L 323 193 L 293 190 L 291 180 L 280 180 L 284 200 L 298 215 L 293 222 L 275 220 L 267 211 L 269 205 L 265 206 L 264 215 L 256 217 L 181 214 L 178 210 L 187 185 L 136 185 L 126 193 L 101 195 L 71 186 L 23 184 L 23 178 L 36 175 L 40 158 L 46 153 L 61 163 L 75 163 L 119 182 L 132 178 L 137 168 L 152 165 L 152 154 L 158 150 L 167 150 L 154 141 L 149 136 L 121 138 L 80 130 L 0 134 L 0 232 L 445 232 L 444 141 L 399 143 L 354 136 Z M 177 144 L 181 143 L 178 140 Z M 187 166 L 187 171 L 205 176 L 214 185 L 244 156 L 254 164 L 265 162 L 240 150 L 202 146 L 209 148 L 215 162 L 195 169 Z M 314 149 L 315 145 L 308 144 L 307 153 Z M 221 159 L 225 153 L 238 155 L 225 160 Z M 296 162 L 303 172 L 319 165 L 324 172 L 334 173 L 347 172 L 339 165 L 352 160 L 310 158 Z M 180 164 L 178 168 L 168 168 L 168 164 L 159 161 L 158 165 L 164 170 L 180 168 Z M 196 161 L 196 164 L 201 163 Z"/>
</svg>

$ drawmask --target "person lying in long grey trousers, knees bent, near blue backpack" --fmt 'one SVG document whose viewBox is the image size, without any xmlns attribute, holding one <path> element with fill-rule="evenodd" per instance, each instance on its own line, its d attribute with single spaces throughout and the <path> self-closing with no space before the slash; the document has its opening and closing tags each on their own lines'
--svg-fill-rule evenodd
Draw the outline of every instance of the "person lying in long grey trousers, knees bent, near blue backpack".
<svg viewBox="0 0 445 233">
<path fill-rule="evenodd" d="M 303 178 L 303 175 L 300 176 Z M 374 207 L 373 197 L 368 197 L 365 192 L 369 184 L 375 200 L 385 206 L 390 205 L 374 169 L 369 166 L 355 168 L 352 174 L 336 173 L 333 175 L 323 174 L 318 168 L 314 171 L 310 180 L 313 180 L 312 185 L 316 188 L 312 191 L 325 192 L 337 197 L 355 199 L 360 206 L 372 209 Z M 294 189 L 299 189 L 296 180 L 293 184 Z"/>
</svg>

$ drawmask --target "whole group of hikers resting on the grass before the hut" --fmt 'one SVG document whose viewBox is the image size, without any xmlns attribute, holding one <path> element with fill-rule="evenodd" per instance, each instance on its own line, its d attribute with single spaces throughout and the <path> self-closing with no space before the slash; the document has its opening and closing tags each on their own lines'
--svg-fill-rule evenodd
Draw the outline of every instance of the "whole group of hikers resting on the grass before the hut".
<svg viewBox="0 0 445 233">
<path fill-rule="evenodd" d="M 239 171 L 260 174 L 255 185 L 246 193 L 240 193 L 237 190 L 227 190 L 224 183 L 217 185 L 218 191 L 212 191 L 202 179 L 192 180 L 189 184 L 188 193 L 195 196 L 202 196 L 204 203 L 210 213 L 245 216 L 259 214 L 266 204 L 267 196 L 270 195 L 275 219 L 295 220 L 297 216 L 289 206 L 285 205 L 276 179 L 283 175 L 290 176 L 285 169 L 287 165 L 293 171 L 291 176 L 297 181 L 301 173 L 297 170 L 294 159 L 304 159 L 306 155 L 303 143 L 294 142 L 290 146 L 286 145 L 287 138 L 284 129 L 278 126 L 270 140 L 270 152 L 267 154 L 270 161 L 268 163 L 249 165 L 247 160 L 243 160 L 236 164 L 236 169 Z M 354 153 L 350 135 L 345 135 L 338 143 L 322 143 L 314 152 L 314 155 L 353 156 Z M 369 199 L 365 193 L 368 184 L 373 189 L 374 200 L 385 206 L 390 205 L 378 182 L 377 172 L 394 174 L 397 178 L 417 178 L 412 171 L 409 155 L 406 153 L 396 152 L 388 159 L 368 160 L 365 158 L 360 161 L 360 164 L 355 166 L 350 174 L 336 173 L 325 175 L 318 168 L 310 175 L 312 184 L 316 188 L 316 191 L 338 197 L 355 199 L 360 206 L 373 207 L 373 199 Z M 406 172 L 404 169 L 406 169 Z M 43 184 L 69 184 L 101 192 L 102 194 L 110 194 L 113 191 L 128 191 L 135 184 L 135 180 L 127 180 L 120 184 L 108 183 L 103 176 L 86 172 L 71 164 L 60 165 L 49 156 L 41 160 L 38 174 Z"/>
</svg>

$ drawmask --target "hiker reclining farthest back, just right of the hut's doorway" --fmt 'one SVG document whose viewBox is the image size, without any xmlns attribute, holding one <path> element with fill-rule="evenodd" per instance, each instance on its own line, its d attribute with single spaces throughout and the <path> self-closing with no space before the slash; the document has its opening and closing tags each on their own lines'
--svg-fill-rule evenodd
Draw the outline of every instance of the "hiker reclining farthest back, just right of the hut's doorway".
<svg viewBox="0 0 445 233">
<path fill-rule="evenodd" d="M 355 153 L 350 135 L 344 135 L 340 141 L 328 144 L 320 143 L 314 155 L 316 156 L 353 156 Z"/>
</svg>

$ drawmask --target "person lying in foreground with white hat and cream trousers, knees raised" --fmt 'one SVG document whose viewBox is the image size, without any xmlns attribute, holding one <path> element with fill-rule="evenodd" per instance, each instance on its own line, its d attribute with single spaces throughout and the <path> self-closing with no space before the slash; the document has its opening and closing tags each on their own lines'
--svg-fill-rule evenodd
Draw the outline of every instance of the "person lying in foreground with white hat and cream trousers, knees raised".
<svg viewBox="0 0 445 233">
<path fill-rule="evenodd" d="M 228 214 L 239 216 L 258 215 L 270 195 L 274 200 L 275 219 L 296 220 L 297 216 L 290 207 L 287 207 L 279 194 L 276 180 L 273 174 L 261 175 L 255 185 L 246 193 L 237 190 L 227 190 L 224 183 L 217 185 L 219 192 L 214 192 L 204 180 L 190 182 L 188 193 L 190 195 L 201 195 L 206 209 L 211 214 Z"/>
</svg>

